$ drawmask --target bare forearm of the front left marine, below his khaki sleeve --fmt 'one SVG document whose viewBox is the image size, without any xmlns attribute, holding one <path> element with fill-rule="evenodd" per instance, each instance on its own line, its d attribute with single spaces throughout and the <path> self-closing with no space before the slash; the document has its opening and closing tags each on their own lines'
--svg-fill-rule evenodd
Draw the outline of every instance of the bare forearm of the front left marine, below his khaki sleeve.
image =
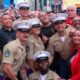
<svg viewBox="0 0 80 80">
<path fill-rule="evenodd" d="M 10 80 L 18 80 L 10 64 L 4 63 L 3 71 L 10 78 Z"/>
</svg>

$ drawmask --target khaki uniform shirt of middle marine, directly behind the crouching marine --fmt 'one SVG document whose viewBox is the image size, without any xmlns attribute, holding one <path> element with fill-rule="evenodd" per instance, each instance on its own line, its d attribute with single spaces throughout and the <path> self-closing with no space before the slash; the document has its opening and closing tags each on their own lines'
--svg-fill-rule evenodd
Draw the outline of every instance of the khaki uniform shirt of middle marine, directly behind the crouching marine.
<svg viewBox="0 0 80 80">
<path fill-rule="evenodd" d="M 28 58 L 32 59 L 33 55 L 40 50 L 45 50 L 43 42 L 41 41 L 40 38 L 36 39 L 33 35 L 30 35 L 30 37 L 28 38 L 28 42 L 29 42 L 29 54 L 28 54 Z"/>
</svg>

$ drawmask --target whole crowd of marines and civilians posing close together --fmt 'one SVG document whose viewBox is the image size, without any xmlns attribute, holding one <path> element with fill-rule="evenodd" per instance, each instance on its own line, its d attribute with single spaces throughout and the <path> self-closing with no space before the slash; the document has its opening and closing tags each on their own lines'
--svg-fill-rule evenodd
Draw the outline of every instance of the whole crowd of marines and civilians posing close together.
<svg viewBox="0 0 80 80">
<path fill-rule="evenodd" d="M 18 5 L 0 17 L 0 80 L 80 80 L 80 16 Z M 12 11 L 12 13 L 11 13 Z"/>
</svg>

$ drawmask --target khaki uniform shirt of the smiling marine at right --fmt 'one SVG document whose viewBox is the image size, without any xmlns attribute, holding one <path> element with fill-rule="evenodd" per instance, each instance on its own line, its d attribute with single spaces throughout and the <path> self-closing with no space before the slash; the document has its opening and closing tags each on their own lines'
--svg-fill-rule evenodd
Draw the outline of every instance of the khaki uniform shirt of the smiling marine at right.
<svg viewBox="0 0 80 80">
<path fill-rule="evenodd" d="M 71 39 L 67 33 L 67 30 L 65 33 L 64 42 L 61 41 L 58 33 L 54 34 L 49 40 L 48 51 L 51 54 L 54 54 L 54 51 L 59 52 L 63 59 L 67 59 L 67 57 L 70 55 L 71 48 Z"/>
</svg>

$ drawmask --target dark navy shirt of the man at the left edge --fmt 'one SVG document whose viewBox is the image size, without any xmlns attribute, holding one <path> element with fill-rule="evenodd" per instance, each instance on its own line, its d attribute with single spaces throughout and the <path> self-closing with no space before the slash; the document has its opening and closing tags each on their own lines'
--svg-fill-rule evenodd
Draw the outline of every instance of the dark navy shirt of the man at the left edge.
<svg viewBox="0 0 80 80">
<path fill-rule="evenodd" d="M 8 42 L 16 39 L 16 31 L 11 29 L 11 31 L 6 30 L 4 27 L 0 29 L 0 49 L 3 50 L 3 46 Z"/>
</svg>

